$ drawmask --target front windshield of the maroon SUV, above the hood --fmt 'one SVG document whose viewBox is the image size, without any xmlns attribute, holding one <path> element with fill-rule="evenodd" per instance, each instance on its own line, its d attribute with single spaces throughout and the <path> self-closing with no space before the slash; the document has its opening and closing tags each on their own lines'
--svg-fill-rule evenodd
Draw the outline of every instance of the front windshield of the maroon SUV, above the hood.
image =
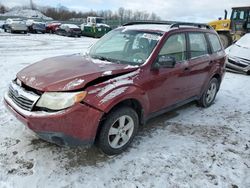
<svg viewBox="0 0 250 188">
<path fill-rule="evenodd" d="M 117 29 L 94 44 L 89 55 L 95 59 L 114 63 L 141 65 L 147 60 L 161 35 L 124 28 Z"/>
</svg>

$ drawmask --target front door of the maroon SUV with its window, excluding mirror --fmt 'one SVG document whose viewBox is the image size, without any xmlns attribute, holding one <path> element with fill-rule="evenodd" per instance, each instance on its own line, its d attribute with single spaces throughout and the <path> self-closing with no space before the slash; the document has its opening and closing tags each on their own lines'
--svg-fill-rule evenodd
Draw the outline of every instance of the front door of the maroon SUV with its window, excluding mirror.
<svg viewBox="0 0 250 188">
<path fill-rule="evenodd" d="M 186 72 L 188 71 L 185 33 L 173 34 L 166 40 L 158 57 L 171 57 L 176 64 L 171 68 L 159 67 L 145 75 L 150 112 L 169 107 L 186 98 Z M 156 62 L 157 63 L 157 60 Z"/>
</svg>

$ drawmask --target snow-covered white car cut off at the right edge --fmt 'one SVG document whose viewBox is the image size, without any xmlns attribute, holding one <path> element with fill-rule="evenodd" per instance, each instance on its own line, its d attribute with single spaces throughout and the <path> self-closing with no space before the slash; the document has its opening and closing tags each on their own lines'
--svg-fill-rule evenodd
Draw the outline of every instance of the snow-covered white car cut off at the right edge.
<svg viewBox="0 0 250 188">
<path fill-rule="evenodd" d="M 227 69 L 232 72 L 250 75 L 250 33 L 245 34 L 226 50 Z"/>
</svg>

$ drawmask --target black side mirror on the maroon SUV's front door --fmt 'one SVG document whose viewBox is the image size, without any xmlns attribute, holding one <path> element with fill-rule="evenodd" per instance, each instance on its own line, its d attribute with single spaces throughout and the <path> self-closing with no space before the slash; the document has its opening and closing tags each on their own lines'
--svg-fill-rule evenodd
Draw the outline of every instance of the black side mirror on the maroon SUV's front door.
<svg viewBox="0 0 250 188">
<path fill-rule="evenodd" d="M 157 60 L 154 64 L 154 68 L 159 69 L 159 68 L 173 68 L 176 64 L 176 60 L 174 57 L 171 56 L 158 56 Z"/>
</svg>

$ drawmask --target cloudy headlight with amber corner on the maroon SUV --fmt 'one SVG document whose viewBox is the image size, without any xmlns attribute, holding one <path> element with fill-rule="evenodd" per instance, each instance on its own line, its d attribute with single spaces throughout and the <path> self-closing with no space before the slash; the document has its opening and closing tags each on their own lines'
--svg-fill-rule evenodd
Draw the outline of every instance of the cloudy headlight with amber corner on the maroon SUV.
<svg viewBox="0 0 250 188">
<path fill-rule="evenodd" d="M 45 92 L 38 100 L 36 106 L 50 110 L 62 110 L 81 102 L 87 95 L 81 92 Z"/>
</svg>

